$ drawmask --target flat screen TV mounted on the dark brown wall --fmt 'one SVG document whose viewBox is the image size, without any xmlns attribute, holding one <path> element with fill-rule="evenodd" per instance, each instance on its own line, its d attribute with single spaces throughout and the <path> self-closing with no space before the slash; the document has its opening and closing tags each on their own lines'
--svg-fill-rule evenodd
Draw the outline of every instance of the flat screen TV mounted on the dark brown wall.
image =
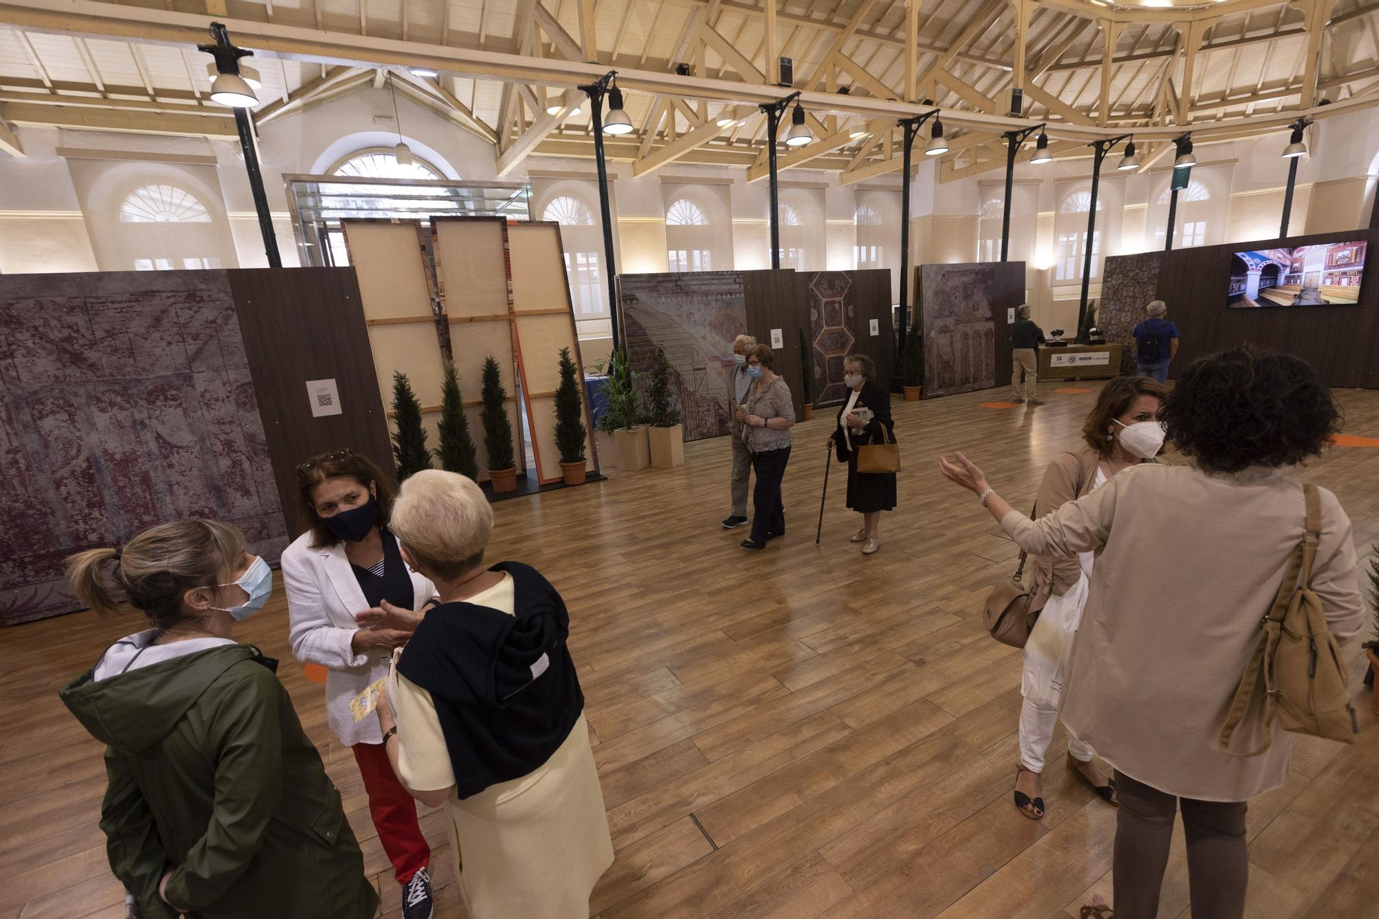
<svg viewBox="0 0 1379 919">
<path fill-rule="evenodd" d="M 1230 257 L 1226 305 L 1336 306 L 1360 302 L 1367 243 L 1255 248 Z"/>
</svg>

